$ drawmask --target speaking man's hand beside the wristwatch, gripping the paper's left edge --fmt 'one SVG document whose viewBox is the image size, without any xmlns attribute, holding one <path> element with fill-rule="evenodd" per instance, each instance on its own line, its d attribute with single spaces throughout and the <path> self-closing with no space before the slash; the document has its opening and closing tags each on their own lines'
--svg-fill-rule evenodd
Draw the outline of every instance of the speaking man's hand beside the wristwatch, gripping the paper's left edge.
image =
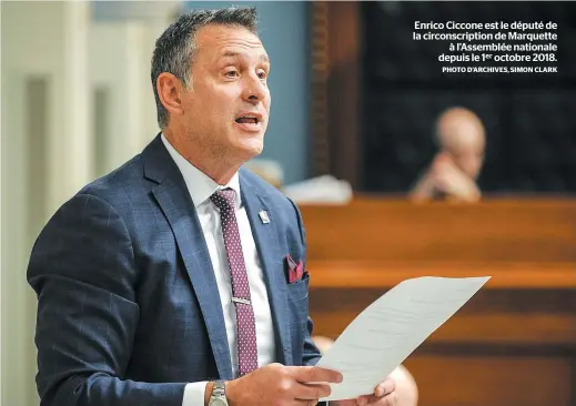
<svg viewBox="0 0 576 406">
<path fill-rule="evenodd" d="M 230 406 L 316 405 L 331 388 L 310 382 L 337 384 L 342 375 L 315 366 L 270 364 L 226 383 L 226 397 Z"/>
</svg>

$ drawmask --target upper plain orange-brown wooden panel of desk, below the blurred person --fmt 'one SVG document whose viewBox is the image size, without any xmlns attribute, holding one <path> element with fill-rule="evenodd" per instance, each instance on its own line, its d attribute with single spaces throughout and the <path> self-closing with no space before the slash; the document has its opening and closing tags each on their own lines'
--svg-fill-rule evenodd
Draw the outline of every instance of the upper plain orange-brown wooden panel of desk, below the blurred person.
<svg viewBox="0 0 576 406">
<path fill-rule="evenodd" d="M 301 209 L 310 260 L 576 262 L 574 199 L 416 205 L 363 197 Z"/>
</svg>

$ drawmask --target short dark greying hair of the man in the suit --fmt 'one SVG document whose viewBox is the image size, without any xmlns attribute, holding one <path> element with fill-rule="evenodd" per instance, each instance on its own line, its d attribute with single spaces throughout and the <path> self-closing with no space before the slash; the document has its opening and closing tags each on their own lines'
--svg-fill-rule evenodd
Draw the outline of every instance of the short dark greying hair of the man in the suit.
<svg viewBox="0 0 576 406">
<path fill-rule="evenodd" d="M 162 72 L 175 75 L 186 88 L 192 85 L 192 59 L 196 49 L 195 34 L 206 24 L 240 26 L 257 34 L 257 13 L 253 7 L 198 10 L 184 13 L 156 40 L 152 55 L 152 89 L 156 100 L 158 125 L 168 125 L 169 114 L 156 90 L 156 80 Z"/>
</svg>

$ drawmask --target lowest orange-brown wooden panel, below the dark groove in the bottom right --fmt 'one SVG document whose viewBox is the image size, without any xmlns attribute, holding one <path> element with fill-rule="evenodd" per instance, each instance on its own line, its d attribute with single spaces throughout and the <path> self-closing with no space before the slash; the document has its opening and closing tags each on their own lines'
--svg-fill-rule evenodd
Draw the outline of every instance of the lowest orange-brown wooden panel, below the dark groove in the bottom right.
<svg viewBox="0 0 576 406">
<path fill-rule="evenodd" d="M 418 406 L 574 406 L 573 365 L 563 357 L 414 356 L 405 365 Z"/>
</svg>

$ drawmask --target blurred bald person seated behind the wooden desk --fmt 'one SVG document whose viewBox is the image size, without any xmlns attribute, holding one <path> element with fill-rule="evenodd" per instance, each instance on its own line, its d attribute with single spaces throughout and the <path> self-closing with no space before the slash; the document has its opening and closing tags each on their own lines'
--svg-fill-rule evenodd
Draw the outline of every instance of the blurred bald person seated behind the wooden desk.
<svg viewBox="0 0 576 406">
<path fill-rule="evenodd" d="M 477 202 L 486 144 L 481 119 L 471 110 L 449 108 L 438 118 L 435 135 L 439 151 L 411 191 L 412 200 Z"/>
</svg>

